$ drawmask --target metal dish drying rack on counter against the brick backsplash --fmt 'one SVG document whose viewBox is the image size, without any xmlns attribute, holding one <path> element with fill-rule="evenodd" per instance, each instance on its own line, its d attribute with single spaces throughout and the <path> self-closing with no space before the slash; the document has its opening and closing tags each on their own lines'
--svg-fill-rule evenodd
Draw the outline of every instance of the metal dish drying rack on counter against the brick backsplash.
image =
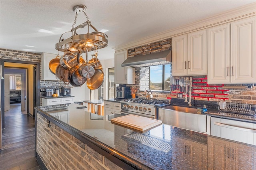
<svg viewBox="0 0 256 170">
<path fill-rule="evenodd" d="M 225 109 L 220 109 L 218 102 L 218 109 L 222 112 L 237 113 L 243 115 L 256 115 L 256 105 L 253 104 L 242 104 L 242 103 L 226 103 Z"/>
</svg>

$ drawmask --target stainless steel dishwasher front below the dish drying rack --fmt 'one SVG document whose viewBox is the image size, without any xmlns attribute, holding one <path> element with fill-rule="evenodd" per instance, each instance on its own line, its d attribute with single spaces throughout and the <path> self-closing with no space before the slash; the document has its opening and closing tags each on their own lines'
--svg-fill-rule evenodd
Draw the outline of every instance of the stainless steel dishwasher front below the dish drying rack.
<svg viewBox="0 0 256 170">
<path fill-rule="evenodd" d="M 211 117 L 211 135 L 256 145 L 256 124 Z"/>
</svg>

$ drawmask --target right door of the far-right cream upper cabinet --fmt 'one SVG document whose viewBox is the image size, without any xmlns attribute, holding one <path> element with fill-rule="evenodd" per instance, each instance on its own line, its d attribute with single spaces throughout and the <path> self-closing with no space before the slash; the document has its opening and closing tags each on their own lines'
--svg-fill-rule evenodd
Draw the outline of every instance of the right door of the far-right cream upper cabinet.
<svg viewBox="0 0 256 170">
<path fill-rule="evenodd" d="M 256 17 L 231 23 L 231 82 L 256 82 Z"/>
</svg>

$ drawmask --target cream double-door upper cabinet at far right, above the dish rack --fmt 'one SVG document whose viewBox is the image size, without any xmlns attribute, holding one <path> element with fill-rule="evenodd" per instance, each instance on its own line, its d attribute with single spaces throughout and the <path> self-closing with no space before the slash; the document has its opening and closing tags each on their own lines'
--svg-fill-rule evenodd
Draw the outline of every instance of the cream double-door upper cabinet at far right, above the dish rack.
<svg viewBox="0 0 256 170">
<path fill-rule="evenodd" d="M 256 82 L 256 18 L 207 31 L 208 83 Z"/>
</svg>

